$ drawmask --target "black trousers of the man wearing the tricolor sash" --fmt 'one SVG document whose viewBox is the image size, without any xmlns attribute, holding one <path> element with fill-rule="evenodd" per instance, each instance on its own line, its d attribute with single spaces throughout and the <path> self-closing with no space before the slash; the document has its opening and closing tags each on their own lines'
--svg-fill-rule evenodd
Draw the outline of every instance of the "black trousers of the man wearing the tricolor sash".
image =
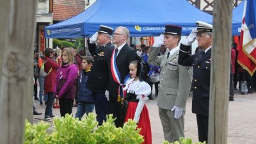
<svg viewBox="0 0 256 144">
<path fill-rule="evenodd" d="M 109 94 L 109 113 L 113 114 L 113 118 L 116 118 L 116 127 L 123 127 L 124 122 L 122 120 L 123 113 L 121 102 L 118 102 L 117 98 L 113 97 L 111 94 Z"/>
</svg>

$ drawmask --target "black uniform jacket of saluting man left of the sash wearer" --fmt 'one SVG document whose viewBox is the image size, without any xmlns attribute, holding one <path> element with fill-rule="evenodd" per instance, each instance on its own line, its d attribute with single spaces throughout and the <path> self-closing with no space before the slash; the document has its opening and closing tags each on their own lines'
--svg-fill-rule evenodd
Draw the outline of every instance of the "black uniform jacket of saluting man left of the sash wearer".
<svg viewBox="0 0 256 144">
<path fill-rule="evenodd" d="M 93 56 L 93 66 L 86 86 L 92 92 L 105 93 L 108 88 L 111 54 L 115 46 L 109 42 L 96 48 L 95 44 L 88 42 L 88 47 Z"/>
</svg>

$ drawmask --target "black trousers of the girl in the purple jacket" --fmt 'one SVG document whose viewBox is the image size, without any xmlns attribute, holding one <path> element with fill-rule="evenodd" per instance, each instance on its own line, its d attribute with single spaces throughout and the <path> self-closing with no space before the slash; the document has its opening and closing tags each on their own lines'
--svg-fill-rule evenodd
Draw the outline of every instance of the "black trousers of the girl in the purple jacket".
<svg viewBox="0 0 256 144">
<path fill-rule="evenodd" d="M 65 116 L 67 113 L 69 115 L 72 114 L 72 108 L 73 108 L 73 101 L 72 99 L 59 99 L 60 102 L 60 116 Z"/>
</svg>

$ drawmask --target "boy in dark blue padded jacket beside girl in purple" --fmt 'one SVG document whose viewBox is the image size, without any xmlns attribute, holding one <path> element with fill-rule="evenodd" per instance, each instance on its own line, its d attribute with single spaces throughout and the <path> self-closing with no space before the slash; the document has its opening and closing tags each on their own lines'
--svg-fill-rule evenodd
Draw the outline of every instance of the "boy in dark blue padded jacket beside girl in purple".
<svg viewBox="0 0 256 144">
<path fill-rule="evenodd" d="M 94 102 L 92 97 L 92 92 L 86 88 L 86 83 L 88 80 L 88 76 L 92 67 L 92 56 L 84 56 L 82 59 L 82 70 L 80 72 L 80 76 L 78 78 L 78 104 L 76 111 L 76 118 L 83 117 L 84 113 L 88 115 L 88 113 L 92 113 L 94 109 Z"/>
</svg>

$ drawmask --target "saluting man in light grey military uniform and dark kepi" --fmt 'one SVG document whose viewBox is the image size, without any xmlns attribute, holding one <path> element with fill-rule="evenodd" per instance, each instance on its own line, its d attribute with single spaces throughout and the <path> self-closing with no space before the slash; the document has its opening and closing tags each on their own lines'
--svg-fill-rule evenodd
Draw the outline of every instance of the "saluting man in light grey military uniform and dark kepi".
<svg viewBox="0 0 256 144">
<path fill-rule="evenodd" d="M 184 137 L 184 114 L 193 73 L 191 67 L 178 64 L 181 31 L 179 26 L 165 26 L 164 36 L 156 38 L 148 56 L 148 63 L 161 67 L 157 106 L 164 140 L 170 143 Z M 170 51 L 157 56 L 163 44 Z"/>
</svg>

